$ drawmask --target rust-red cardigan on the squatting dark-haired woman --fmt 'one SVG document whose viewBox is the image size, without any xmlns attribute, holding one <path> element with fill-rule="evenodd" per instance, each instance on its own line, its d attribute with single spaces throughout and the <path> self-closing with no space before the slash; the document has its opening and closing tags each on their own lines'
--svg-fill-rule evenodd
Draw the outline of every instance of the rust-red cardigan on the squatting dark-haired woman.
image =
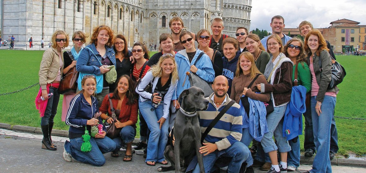
<svg viewBox="0 0 366 173">
<path fill-rule="evenodd" d="M 110 95 L 110 97 L 112 97 L 113 93 L 110 93 L 109 95 Z M 122 123 L 127 122 L 128 120 L 131 120 L 133 122 L 132 126 L 136 128 L 138 101 L 136 100 L 133 105 L 127 105 L 127 101 L 128 101 L 128 97 L 125 97 L 122 101 L 120 114 L 116 115 L 116 116 L 118 116 L 118 118 L 117 118 L 118 121 L 122 122 Z M 112 104 L 113 104 L 113 108 L 116 109 L 118 100 L 112 99 Z M 103 102 L 102 102 L 102 106 L 100 106 L 99 110 L 104 114 L 107 114 L 107 112 L 108 112 L 108 115 L 112 116 L 111 106 L 109 106 L 108 95 L 105 95 Z"/>
</svg>

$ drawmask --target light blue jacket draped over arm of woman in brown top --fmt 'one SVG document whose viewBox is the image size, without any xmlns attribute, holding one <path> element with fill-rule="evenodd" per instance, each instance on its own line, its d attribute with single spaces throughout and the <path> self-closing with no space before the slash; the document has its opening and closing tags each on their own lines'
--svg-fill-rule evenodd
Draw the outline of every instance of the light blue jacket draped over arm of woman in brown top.
<svg viewBox="0 0 366 173">
<path fill-rule="evenodd" d="M 264 103 L 248 97 L 249 101 L 249 118 L 242 106 L 242 100 L 240 99 L 240 111 L 243 115 L 243 129 L 249 128 L 250 135 L 258 142 L 261 142 L 263 135 L 268 133 L 268 126 L 266 120 L 266 107 Z M 259 130 L 260 128 L 260 130 Z"/>
</svg>

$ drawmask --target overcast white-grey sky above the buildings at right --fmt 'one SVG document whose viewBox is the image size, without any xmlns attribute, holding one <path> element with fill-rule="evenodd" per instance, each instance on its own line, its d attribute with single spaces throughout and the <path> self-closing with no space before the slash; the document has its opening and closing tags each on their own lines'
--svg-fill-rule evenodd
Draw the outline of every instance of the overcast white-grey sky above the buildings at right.
<svg viewBox="0 0 366 173">
<path fill-rule="evenodd" d="M 275 15 L 283 16 L 285 28 L 296 28 L 304 20 L 314 28 L 327 28 L 338 19 L 366 25 L 366 0 L 253 0 L 251 5 L 250 31 L 272 32 L 269 24 Z"/>
</svg>

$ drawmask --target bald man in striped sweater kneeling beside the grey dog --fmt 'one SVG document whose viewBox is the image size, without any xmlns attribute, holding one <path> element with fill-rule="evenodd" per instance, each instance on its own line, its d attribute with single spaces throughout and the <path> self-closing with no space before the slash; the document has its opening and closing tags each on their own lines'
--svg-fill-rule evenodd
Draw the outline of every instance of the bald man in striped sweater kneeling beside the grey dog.
<svg viewBox="0 0 366 173">
<path fill-rule="evenodd" d="M 202 133 L 206 131 L 210 123 L 230 102 L 234 102 L 229 98 L 227 91 L 229 89 L 228 80 L 225 76 L 217 76 L 212 84 L 214 93 L 208 98 L 208 109 L 198 111 L 199 125 Z M 240 114 L 238 103 L 232 106 L 228 105 L 228 110 L 217 121 L 213 128 L 208 132 L 203 140 L 203 146 L 199 148 L 199 152 L 203 154 L 203 166 L 205 172 L 213 172 L 215 162 L 221 162 L 221 158 L 230 158 L 227 172 L 238 173 L 244 161 L 250 160 L 250 151 L 240 139 L 242 138 L 242 115 Z M 205 133 L 203 133 L 203 136 Z M 193 162 L 192 162 L 193 163 Z M 191 163 L 191 164 L 192 164 Z M 194 165 L 193 165 L 194 166 Z M 224 165 L 225 166 L 225 165 Z M 191 167 L 188 166 L 188 168 Z M 246 169 L 245 167 L 243 169 Z M 245 172 L 245 170 L 240 170 Z M 187 169 L 188 170 L 188 169 Z M 193 173 L 199 172 L 198 164 L 195 165 Z"/>
</svg>

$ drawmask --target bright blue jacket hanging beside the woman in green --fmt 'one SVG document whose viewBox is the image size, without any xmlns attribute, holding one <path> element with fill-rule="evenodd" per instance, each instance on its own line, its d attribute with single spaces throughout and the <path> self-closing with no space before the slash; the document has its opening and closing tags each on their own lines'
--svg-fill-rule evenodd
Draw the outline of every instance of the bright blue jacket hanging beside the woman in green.
<svg viewBox="0 0 366 173">
<path fill-rule="evenodd" d="M 302 114 L 305 106 L 306 88 L 302 85 L 292 87 L 291 100 L 287 104 L 283 120 L 283 137 L 287 141 L 302 134 Z"/>
</svg>

